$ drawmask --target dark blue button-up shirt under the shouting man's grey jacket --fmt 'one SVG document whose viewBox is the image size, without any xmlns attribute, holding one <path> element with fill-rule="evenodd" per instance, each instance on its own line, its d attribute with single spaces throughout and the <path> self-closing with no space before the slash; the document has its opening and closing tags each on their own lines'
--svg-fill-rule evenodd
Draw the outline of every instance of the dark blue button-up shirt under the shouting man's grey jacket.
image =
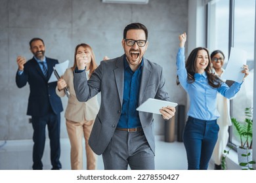
<svg viewBox="0 0 256 183">
<path fill-rule="evenodd" d="M 127 63 L 124 62 L 124 85 L 123 85 L 123 105 L 121 116 L 117 127 L 133 128 L 141 127 L 139 112 L 136 110 L 139 102 L 140 80 L 142 76 L 143 58 L 139 68 L 133 72 Z"/>
</svg>

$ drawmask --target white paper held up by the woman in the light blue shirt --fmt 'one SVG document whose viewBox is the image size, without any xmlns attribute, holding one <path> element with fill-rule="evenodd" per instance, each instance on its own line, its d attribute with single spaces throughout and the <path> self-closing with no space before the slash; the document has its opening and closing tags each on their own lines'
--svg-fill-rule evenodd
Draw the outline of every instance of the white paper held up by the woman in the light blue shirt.
<svg viewBox="0 0 256 183">
<path fill-rule="evenodd" d="M 234 80 L 236 82 L 242 82 L 244 78 L 243 65 L 246 64 L 247 52 L 238 48 L 231 48 L 230 56 L 226 69 L 221 75 L 223 80 Z"/>
</svg>

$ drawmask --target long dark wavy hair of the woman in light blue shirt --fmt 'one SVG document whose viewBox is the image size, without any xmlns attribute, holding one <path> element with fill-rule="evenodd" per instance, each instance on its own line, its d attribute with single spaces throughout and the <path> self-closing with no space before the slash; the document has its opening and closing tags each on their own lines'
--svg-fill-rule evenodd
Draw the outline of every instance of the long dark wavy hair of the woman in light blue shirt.
<svg viewBox="0 0 256 183">
<path fill-rule="evenodd" d="M 208 59 L 209 59 L 209 63 L 205 68 L 208 84 L 213 88 L 219 88 L 221 86 L 221 80 L 219 79 L 218 76 L 214 75 L 214 73 L 211 72 L 212 68 L 210 64 L 211 58 L 209 57 L 209 51 L 207 50 L 207 48 L 203 48 L 203 47 L 194 48 L 194 50 L 190 52 L 188 59 L 186 59 L 186 71 L 188 73 L 188 78 L 187 78 L 188 82 L 192 83 L 195 81 L 194 75 L 196 74 L 196 59 L 198 58 L 198 52 L 200 50 L 205 50 L 207 52 Z M 177 78 L 177 84 L 179 84 L 179 78 Z"/>
</svg>

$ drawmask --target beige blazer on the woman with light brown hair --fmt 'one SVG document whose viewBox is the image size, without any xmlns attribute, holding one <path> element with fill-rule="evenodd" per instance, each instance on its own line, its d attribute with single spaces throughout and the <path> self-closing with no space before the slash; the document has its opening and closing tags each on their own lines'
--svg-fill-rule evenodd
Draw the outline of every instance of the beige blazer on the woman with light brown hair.
<svg viewBox="0 0 256 183">
<path fill-rule="evenodd" d="M 66 107 L 65 118 L 73 122 L 82 122 L 83 120 L 95 120 L 96 114 L 99 110 L 97 96 L 91 98 L 87 102 L 77 101 L 74 90 L 74 74 L 71 68 L 68 68 L 63 79 L 66 81 L 68 91 L 70 92 L 70 97 L 68 99 L 68 105 Z M 58 91 L 58 86 L 56 87 L 56 93 L 59 97 L 64 97 L 64 90 Z"/>
</svg>

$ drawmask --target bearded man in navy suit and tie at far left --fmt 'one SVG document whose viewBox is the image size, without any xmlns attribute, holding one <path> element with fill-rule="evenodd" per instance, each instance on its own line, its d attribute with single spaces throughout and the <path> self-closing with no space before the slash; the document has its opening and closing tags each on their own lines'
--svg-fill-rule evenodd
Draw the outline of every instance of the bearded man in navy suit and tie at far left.
<svg viewBox="0 0 256 183">
<path fill-rule="evenodd" d="M 45 148 L 45 127 L 47 125 L 51 146 L 52 169 L 61 169 L 60 163 L 60 112 L 62 102 L 56 95 L 56 83 L 48 83 L 53 73 L 57 59 L 45 57 L 45 44 L 40 38 L 30 41 L 30 50 L 33 58 L 18 56 L 18 71 L 16 85 L 24 87 L 30 85 L 27 115 L 32 116 L 33 126 L 33 169 L 43 169 L 41 161 Z"/>
</svg>

